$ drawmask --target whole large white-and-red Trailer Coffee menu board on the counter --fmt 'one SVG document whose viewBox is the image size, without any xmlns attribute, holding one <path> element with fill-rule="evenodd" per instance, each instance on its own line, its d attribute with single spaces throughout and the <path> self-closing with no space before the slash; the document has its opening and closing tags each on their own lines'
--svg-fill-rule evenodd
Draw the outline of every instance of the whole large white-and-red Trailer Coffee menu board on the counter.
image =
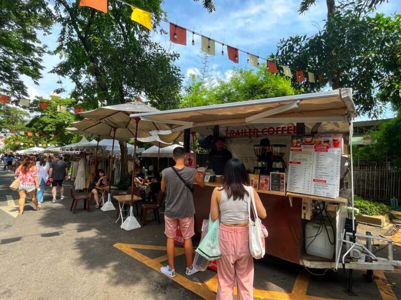
<svg viewBox="0 0 401 300">
<path fill-rule="evenodd" d="M 339 195 L 341 134 L 294 136 L 287 190 L 336 198 Z"/>
</svg>

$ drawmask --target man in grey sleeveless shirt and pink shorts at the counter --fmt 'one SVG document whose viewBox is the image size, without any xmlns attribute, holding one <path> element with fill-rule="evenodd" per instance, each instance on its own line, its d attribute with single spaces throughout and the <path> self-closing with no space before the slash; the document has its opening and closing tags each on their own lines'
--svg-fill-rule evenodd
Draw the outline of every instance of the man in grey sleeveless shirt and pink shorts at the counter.
<svg viewBox="0 0 401 300">
<path fill-rule="evenodd" d="M 160 268 L 160 271 L 170 277 L 175 277 L 174 268 L 174 239 L 177 226 L 181 227 L 184 239 L 184 252 L 186 258 L 185 274 L 191 275 L 197 272 L 192 266 L 192 239 L 194 232 L 195 207 L 191 193 L 193 180 L 204 187 L 205 182 L 196 172 L 195 168 L 184 166 L 185 151 L 183 147 L 174 148 L 173 160 L 175 166 L 162 171 L 161 191 L 166 191 L 166 203 L 164 211 L 165 230 L 167 236 L 168 265 Z M 184 183 L 185 182 L 185 183 Z"/>
</svg>

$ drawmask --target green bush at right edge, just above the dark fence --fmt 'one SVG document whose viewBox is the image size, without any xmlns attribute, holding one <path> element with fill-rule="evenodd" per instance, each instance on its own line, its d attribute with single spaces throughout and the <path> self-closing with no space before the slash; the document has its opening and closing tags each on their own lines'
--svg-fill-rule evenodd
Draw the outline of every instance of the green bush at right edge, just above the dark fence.
<svg viewBox="0 0 401 300">
<path fill-rule="evenodd" d="M 401 167 L 401 114 L 388 121 L 380 123 L 379 130 L 367 133 L 371 136 L 371 143 L 356 147 L 353 150 L 354 161 L 362 160 L 385 161 L 391 160 L 397 167 Z"/>
</svg>

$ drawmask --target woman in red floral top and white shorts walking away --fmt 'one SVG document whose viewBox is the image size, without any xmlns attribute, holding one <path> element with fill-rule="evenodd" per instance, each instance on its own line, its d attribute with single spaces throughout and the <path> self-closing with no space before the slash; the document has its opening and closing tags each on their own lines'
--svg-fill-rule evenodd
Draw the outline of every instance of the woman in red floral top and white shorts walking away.
<svg viewBox="0 0 401 300">
<path fill-rule="evenodd" d="M 35 210 L 41 209 L 41 204 L 38 203 L 36 197 L 36 189 L 39 189 L 39 181 L 35 156 L 28 156 L 25 158 L 24 162 L 16 170 L 16 175 L 20 176 L 20 186 L 18 188 L 20 194 L 20 200 L 18 201 L 20 211 L 18 214 L 24 213 L 24 204 L 27 193 L 35 204 Z"/>
</svg>

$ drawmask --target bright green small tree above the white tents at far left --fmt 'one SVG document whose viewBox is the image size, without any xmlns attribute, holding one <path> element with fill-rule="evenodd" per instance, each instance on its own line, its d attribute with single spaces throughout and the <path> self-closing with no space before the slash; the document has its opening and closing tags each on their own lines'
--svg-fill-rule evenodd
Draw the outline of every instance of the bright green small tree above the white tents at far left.
<svg viewBox="0 0 401 300">
<path fill-rule="evenodd" d="M 74 105 L 76 104 L 75 99 L 62 99 L 52 97 L 48 109 L 40 109 L 39 102 L 49 100 L 43 98 L 36 98 L 31 107 L 34 108 L 36 115 L 29 122 L 28 126 L 33 128 L 34 132 L 41 132 L 47 134 L 47 140 L 55 144 L 69 144 L 77 136 L 77 134 L 64 130 L 70 126 L 71 122 L 77 120 L 77 116 L 71 113 L 69 110 L 66 112 L 58 112 L 57 105 Z"/>
</svg>

